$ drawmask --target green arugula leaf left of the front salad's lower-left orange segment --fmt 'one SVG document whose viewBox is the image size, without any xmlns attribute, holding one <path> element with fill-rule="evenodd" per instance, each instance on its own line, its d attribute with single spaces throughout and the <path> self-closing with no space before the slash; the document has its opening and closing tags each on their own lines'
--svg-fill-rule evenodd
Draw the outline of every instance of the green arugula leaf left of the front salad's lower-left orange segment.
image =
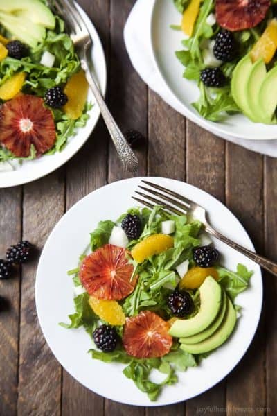
<svg viewBox="0 0 277 416">
<path fill-rule="evenodd" d="M 89 333 L 92 337 L 92 333 L 97 327 L 99 318 L 95 313 L 93 313 L 91 306 L 89 306 L 89 294 L 85 292 L 82 293 L 82 295 L 76 296 L 74 298 L 74 304 L 75 313 L 69 315 L 71 323 L 66 324 L 64 322 L 60 322 L 60 326 L 67 329 L 80 328 L 83 326 L 87 333 Z"/>
</svg>

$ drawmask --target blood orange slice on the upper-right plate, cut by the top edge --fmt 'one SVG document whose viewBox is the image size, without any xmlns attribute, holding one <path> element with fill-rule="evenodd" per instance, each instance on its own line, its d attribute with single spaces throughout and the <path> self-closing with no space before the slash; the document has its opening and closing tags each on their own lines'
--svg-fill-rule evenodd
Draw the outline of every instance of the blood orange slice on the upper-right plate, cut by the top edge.
<svg viewBox="0 0 277 416">
<path fill-rule="evenodd" d="M 269 0 L 216 0 L 217 23 L 229 31 L 257 26 L 267 14 Z"/>
</svg>

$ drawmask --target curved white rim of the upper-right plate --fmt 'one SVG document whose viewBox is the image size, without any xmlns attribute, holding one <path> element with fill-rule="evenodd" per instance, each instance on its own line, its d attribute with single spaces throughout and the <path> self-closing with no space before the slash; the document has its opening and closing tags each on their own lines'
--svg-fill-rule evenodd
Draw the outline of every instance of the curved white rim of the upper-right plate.
<svg viewBox="0 0 277 416">
<path fill-rule="evenodd" d="M 219 127 L 219 123 L 215 123 L 212 121 L 208 121 L 204 119 L 204 117 L 200 116 L 200 114 L 194 113 L 192 110 L 190 110 L 190 107 L 188 107 L 181 99 L 175 94 L 173 89 L 170 87 L 168 81 L 163 76 L 163 71 L 161 71 L 161 68 L 159 67 L 159 62 L 157 60 L 157 56 L 154 52 L 154 44 L 153 44 L 153 33 L 154 33 L 154 12 L 155 8 L 157 7 L 157 3 L 159 0 L 154 0 L 154 2 L 151 5 L 150 10 L 150 51 L 152 56 L 152 61 L 154 62 L 154 67 L 159 73 L 159 76 L 163 82 L 163 87 L 167 89 L 168 94 L 171 94 L 177 103 L 179 104 L 179 108 L 181 111 L 181 114 L 184 115 L 187 119 L 190 121 L 193 121 L 193 123 L 196 123 L 200 127 L 204 128 L 205 130 L 212 132 L 214 135 L 217 135 L 222 138 L 228 138 L 233 137 L 236 139 L 246 139 L 246 140 L 255 140 L 255 141 L 262 141 L 262 140 L 276 140 L 277 139 L 277 126 L 276 126 L 276 132 L 267 135 L 266 137 L 252 137 L 251 135 L 247 134 L 247 132 L 244 132 L 243 134 L 236 134 L 236 133 L 230 133 L 224 130 L 224 128 Z M 177 58 L 176 58 L 177 59 Z M 252 123 L 252 122 L 251 122 Z M 255 125 L 255 123 L 253 123 Z"/>
</svg>

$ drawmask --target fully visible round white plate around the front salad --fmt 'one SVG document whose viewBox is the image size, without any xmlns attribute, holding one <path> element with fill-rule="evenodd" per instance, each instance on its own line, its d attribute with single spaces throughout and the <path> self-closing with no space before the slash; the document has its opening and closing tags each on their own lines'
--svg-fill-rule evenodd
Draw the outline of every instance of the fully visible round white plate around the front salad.
<svg viewBox="0 0 277 416">
<path fill-rule="evenodd" d="M 87 247 L 89 233 L 96 228 L 98 221 L 116 220 L 129 207 L 136 205 L 131 196 L 141 179 L 121 180 L 106 185 L 89 193 L 69 209 L 44 246 L 37 269 L 35 300 L 46 341 L 71 376 L 108 399 L 138 406 L 159 406 L 199 395 L 222 380 L 238 364 L 258 326 L 262 305 L 262 277 L 256 263 L 220 241 L 215 241 L 222 253 L 224 266 L 235 270 L 237 263 L 243 263 L 254 271 L 249 289 L 236 300 L 242 306 L 242 317 L 227 343 L 203 360 L 199 367 L 180 372 L 178 383 L 164 388 L 155 402 L 151 402 L 131 380 L 123 376 L 124 365 L 93 360 L 87 353 L 91 348 L 89 335 L 83 329 L 64 329 L 58 324 L 68 322 L 67 315 L 74 311 L 73 283 L 71 277 L 66 275 L 66 270 L 78 265 L 78 257 Z M 199 202 L 208 210 L 211 223 L 220 232 L 253 249 L 253 244 L 238 219 L 208 193 L 177 180 L 160 177 L 148 179 Z"/>
</svg>

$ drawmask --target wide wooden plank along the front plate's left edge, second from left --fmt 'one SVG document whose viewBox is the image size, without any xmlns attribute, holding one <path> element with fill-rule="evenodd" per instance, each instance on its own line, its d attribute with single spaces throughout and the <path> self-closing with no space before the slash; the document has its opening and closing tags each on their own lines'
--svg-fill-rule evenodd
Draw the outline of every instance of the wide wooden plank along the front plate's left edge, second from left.
<svg viewBox="0 0 277 416">
<path fill-rule="evenodd" d="M 63 169 L 26 185 L 23 202 L 23 237 L 41 251 L 64 214 Z M 61 370 L 35 311 L 37 261 L 22 268 L 18 415 L 56 416 L 60 415 Z"/>
</svg>

